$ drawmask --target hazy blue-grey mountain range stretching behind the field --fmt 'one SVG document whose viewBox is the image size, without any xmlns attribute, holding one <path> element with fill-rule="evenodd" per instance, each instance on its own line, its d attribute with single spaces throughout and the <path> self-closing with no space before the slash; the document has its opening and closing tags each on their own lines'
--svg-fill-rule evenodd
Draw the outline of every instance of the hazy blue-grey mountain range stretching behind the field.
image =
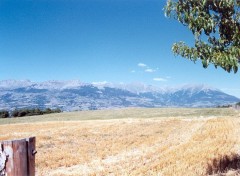
<svg viewBox="0 0 240 176">
<path fill-rule="evenodd" d="M 63 111 L 123 107 L 216 107 L 240 99 L 206 85 L 178 88 L 141 83 L 0 81 L 0 110 L 60 108 Z"/>
</svg>

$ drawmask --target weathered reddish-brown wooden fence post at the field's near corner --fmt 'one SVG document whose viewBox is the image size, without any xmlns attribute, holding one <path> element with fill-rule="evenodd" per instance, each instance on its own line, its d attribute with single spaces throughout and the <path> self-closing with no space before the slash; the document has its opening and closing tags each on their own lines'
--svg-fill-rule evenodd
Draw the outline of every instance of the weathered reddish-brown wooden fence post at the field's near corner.
<svg viewBox="0 0 240 176">
<path fill-rule="evenodd" d="M 35 154 L 35 137 L 0 141 L 0 176 L 35 176 Z"/>
</svg>

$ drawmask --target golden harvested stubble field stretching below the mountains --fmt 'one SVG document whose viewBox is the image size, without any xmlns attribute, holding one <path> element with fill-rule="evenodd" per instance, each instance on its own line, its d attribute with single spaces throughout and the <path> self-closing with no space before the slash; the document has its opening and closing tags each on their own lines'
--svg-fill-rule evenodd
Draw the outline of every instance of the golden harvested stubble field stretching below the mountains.
<svg viewBox="0 0 240 176">
<path fill-rule="evenodd" d="M 36 136 L 37 175 L 237 175 L 233 109 L 119 109 L 0 120 L 0 140 Z"/>
</svg>

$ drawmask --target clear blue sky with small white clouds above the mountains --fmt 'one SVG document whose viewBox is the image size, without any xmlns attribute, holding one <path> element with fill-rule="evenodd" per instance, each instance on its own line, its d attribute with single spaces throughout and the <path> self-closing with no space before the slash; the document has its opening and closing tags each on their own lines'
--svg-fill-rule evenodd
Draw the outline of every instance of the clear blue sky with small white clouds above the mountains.
<svg viewBox="0 0 240 176">
<path fill-rule="evenodd" d="M 165 0 L 1 0 L 0 80 L 207 84 L 240 97 L 233 74 L 175 57 L 190 31 Z"/>
</svg>

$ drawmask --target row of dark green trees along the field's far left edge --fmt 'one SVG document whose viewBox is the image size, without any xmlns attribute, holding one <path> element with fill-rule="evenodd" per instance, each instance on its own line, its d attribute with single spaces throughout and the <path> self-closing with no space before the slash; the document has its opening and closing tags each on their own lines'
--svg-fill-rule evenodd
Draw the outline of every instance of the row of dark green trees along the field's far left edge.
<svg viewBox="0 0 240 176">
<path fill-rule="evenodd" d="M 44 110 L 40 110 L 39 108 L 34 109 L 15 109 L 14 111 L 0 111 L 0 118 L 9 118 L 9 117 L 24 117 L 24 116 L 34 116 L 34 115 L 43 115 L 43 114 L 51 114 L 51 113 L 60 113 L 61 109 L 50 109 L 46 108 Z"/>
</svg>

